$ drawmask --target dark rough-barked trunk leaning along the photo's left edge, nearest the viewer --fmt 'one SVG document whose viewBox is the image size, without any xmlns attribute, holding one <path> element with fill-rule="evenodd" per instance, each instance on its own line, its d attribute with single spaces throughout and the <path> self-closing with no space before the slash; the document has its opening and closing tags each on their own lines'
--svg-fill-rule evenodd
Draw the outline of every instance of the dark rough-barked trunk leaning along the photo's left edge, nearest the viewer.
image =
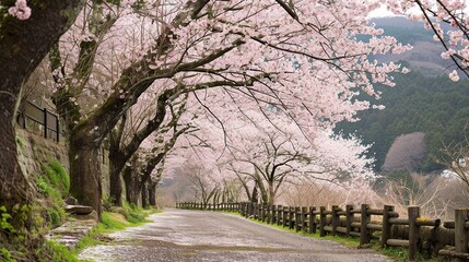
<svg viewBox="0 0 469 262">
<path fill-rule="evenodd" d="M 0 205 L 13 215 L 11 223 L 15 228 L 25 226 L 27 219 L 16 217 L 12 207 L 31 201 L 26 175 L 17 163 L 14 132 L 22 85 L 70 27 L 83 4 L 83 0 L 28 1 L 32 9 L 28 20 L 0 17 Z"/>
</svg>

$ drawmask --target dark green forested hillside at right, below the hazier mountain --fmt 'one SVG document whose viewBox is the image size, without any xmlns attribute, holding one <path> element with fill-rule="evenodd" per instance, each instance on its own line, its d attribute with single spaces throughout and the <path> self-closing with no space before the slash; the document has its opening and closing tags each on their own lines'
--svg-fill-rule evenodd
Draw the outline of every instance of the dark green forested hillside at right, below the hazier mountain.
<svg viewBox="0 0 469 262">
<path fill-rule="evenodd" d="M 392 141 L 400 134 L 424 132 L 427 151 L 437 155 L 442 143 L 464 138 L 469 120 L 469 82 L 452 82 L 447 75 L 425 76 L 418 70 L 396 75 L 395 87 L 378 86 L 383 98 L 373 104 L 386 106 L 384 110 L 359 114 L 361 121 L 341 122 L 336 131 L 356 133 L 366 144 L 373 144 L 379 170 Z M 438 169 L 427 157 L 422 171 Z"/>
</svg>

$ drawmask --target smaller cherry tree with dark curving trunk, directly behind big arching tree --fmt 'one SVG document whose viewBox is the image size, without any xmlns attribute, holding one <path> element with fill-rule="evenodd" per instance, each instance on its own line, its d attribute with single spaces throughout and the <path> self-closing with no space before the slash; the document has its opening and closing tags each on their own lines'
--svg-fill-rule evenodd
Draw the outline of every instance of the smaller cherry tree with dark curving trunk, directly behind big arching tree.
<svg viewBox="0 0 469 262">
<path fill-rule="evenodd" d="M 174 145 L 177 136 L 188 129 L 173 130 L 174 142 L 171 143 L 171 146 L 169 144 L 163 145 L 159 143 L 159 141 L 164 141 L 164 138 L 154 139 L 153 136 L 161 138 L 172 128 L 176 128 L 180 116 L 186 111 L 187 95 L 178 97 L 177 100 L 171 104 L 165 95 L 159 96 L 156 102 L 152 99 L 143 102 L 143 98 L 141 97 L 140 103 L 122 116 L 118 126 L 109 134 L 109 196 L 115 205 L 121 205 L 122 186 L 120 174 L 131 156 L 142 147 L 143 150 L 146 147 L 155 156 L 159 147 L 167 152 Z M 166 114 L 167 110 L 171 114 Z M 152 142 L 152 145 L 144 145 L 142 143 L 145 140 L 156 142 Z M 161 160 L 164 155 L 165 153 L 157 158 Z M 155 162 L 155 165 L 157 162 Z M 153 160 L 148 160 L 148 163 L 153 163 Z"/>
</svg>

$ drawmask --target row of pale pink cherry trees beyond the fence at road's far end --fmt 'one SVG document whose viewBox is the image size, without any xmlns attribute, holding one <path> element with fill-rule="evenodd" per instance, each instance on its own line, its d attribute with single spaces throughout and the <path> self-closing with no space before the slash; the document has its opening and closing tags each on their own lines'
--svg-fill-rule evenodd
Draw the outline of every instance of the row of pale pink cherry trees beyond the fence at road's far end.
<svg viewBox="0 0 469 262">
<path fill-rule="evenodd" d="M 178 167 L 175 176 L 190 178 L 203 203 L 241 188 L 249 201 L 273 204 L 285 184 L 315 181 L 350 188 L 375 179 L 373 159 L 363 156 L 367 147 L 361 141 L 335 136 L 330 129 L 317 130 L 308 141 L 280 109 L 270 107 L 265 114 L 269 121 L 256 110 L 221 114 L 230 119 L 218 118 L 222 126 L 204 130 L 211 139 L 184 157 L 188 164 L 176 150 L 177 157 L 169 156 L 167 165 Z"/>
</svg>

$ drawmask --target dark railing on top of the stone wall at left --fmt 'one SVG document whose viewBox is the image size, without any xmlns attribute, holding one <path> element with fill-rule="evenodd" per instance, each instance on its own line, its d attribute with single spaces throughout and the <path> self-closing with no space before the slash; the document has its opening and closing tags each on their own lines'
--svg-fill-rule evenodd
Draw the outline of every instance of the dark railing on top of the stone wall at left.
<svg viewBox="0 0 469 262">
<path fill-rule="evenodd" d="M 40 108 L 28 100 L 19 111 L 16 122 L 23 129 L 40 132 L 40 135 L 46 139 L 52 139 L 56 142 L 60 140 L 58 116 L 47 110 L 47 108 Z"/>
</svg>

